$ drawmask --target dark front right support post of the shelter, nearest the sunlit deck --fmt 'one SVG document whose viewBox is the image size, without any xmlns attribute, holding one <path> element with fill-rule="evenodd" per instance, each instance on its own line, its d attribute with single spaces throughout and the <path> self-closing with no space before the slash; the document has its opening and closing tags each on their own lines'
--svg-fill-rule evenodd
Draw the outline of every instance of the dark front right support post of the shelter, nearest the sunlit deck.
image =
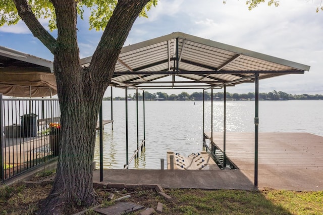
<svg viewBox="0 0 323 215">
<path fill-rule="evenodd" d="M 254 113 L 254 186 L 258 186 L 258 125 L 259 125 L 259 73 L 255 73 L 255 113 Z"/>
</svg>

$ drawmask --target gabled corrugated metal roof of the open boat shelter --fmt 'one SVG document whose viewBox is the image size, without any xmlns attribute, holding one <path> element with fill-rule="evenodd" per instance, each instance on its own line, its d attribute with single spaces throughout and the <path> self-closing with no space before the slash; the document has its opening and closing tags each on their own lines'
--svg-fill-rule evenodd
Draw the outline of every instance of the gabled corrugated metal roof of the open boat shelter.
<svg viewBox="0 0 323 215">
<path fill-rule="evenodd" d="M 91 57 L 81 60 L 83 66 L 88 66 L 90 61 Z M 117 87 L 124 87 L 124 84 L 140 87 L 155 85 L 158 79 L 172 75 L 173 81 L 164 81 L 165 86 L 181 86 L 183 79 L 177 81 L 177 76 L 188 79 L 192 86 L 201 83 L 205 86 L 223 86 L 254 81 L 255 73 L 259 73 L 259 79 L 264 79 L 302 74 L 309 68 L 255 51 L 175 32 L 123 47 L 113 80 Z"/>
</svg>

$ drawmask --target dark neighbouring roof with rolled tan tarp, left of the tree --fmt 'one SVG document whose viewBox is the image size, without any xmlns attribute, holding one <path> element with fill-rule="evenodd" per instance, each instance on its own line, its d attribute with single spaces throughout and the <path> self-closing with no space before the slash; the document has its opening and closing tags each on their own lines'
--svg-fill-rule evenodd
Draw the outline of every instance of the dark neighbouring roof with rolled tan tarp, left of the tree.
<svg viewBox="0 0 323 215">
<path fill-rule="evenodd" d="M 51 61 L 0 46 L 0 93 L 16 97 L 57 94 Z"/>
</svg>

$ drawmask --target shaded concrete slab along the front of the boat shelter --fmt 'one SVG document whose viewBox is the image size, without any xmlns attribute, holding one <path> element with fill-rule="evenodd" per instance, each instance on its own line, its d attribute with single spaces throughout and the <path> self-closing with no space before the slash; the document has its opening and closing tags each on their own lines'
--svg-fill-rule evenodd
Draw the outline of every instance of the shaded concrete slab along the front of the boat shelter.
<svg viewBox="0 0 323 215">
<path fill-rule="evenodd" d="M 93 180 L 99 178 L 99 171 L 93 171 Z M 164 188 L 257 189 L 240 170 L 103 170 L 103 182 L 159 184 Z"/>
</svg>

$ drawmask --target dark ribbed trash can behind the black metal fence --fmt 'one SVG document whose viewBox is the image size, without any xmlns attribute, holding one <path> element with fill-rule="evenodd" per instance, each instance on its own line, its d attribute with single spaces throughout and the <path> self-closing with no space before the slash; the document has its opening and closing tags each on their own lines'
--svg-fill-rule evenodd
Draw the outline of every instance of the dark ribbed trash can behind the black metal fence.
<svg viewBox="0 0 323 215">
<path fill-rule="evenodd" d="M 25 114 L 21 116 L 21 136 L 35 137 L 37 135 L 37 117 L 36 114 Z"/>
</svg>

